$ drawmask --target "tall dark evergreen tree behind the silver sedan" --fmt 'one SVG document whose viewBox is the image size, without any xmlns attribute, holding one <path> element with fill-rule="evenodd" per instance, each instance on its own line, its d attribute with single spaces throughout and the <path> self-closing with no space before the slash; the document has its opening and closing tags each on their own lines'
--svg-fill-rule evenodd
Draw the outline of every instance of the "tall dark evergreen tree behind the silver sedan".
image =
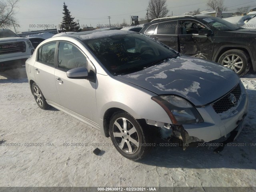
<svg viewBox="0 0 256 192">
<path fill-rule="evenodd" d="M 64 16 L 62 17 L 62 22 L 61 22 L 61 27 L 64 29 L 66 32 L 68 31 L 80 31 L 79 25 L 74 22 L 74 17 L 71 17 L 70 11 L 68 10 L 68 6 L 65 4 L 63 5 L 63 11 Z"/>
</svg>

